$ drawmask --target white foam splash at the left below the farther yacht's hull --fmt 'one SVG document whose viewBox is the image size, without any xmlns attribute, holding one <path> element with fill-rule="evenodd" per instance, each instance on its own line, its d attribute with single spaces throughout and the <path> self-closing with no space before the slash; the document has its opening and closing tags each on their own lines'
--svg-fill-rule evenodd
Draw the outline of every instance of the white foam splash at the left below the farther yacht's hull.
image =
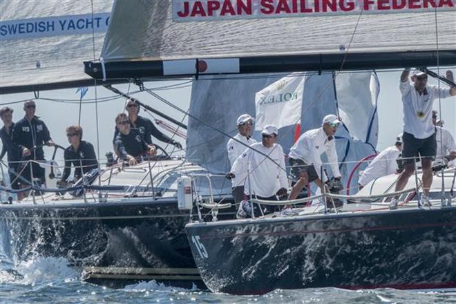
<svg viewBox="0 0 456 304">
<path fill-rule="evenodd" d="M 80 276 L 74 268 L 68 267 L 65 258 L 32 258 L 19 263 L 16 269 L 23 276 L 19 283 L 32 286 L 37 283 L 71 281 Z"/>
</svg>

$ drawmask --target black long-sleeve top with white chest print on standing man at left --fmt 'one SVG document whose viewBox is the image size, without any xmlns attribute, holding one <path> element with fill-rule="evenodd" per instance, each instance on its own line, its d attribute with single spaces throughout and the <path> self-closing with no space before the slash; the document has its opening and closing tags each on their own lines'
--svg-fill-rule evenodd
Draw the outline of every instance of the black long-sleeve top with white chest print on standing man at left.
<svg viewBox="0 0 456 304">
<path fill-rule="evenodd" d="M 23 117 L 19 122 L 16 122 L 12 129 L 12 144 L 17 144 L 20 154 L 23 149 L 29 149 L 32 152 L 31 158 L 33 160 L 44 160 L 42 145 L 49 140 L 48 127 L 37 116 L 34 116 L 31 122 Z M 32 150 L 34 146 L 40 147 Z"/>
</svg>

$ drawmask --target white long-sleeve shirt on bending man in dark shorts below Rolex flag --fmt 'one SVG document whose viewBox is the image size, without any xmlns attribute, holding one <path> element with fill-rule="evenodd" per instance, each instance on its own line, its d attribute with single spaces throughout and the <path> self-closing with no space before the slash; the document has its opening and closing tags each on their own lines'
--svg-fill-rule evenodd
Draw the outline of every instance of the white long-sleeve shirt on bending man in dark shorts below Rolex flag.
<svg viewBox="0 0 456 304">
<path fill-rule="evenodd" d="M 323 131 L 323 127 L 312 129 L 301 135 L 289 149 L 289 157 L 295 160 L 303 160 L 306 164 L 313 164 L 316 173 L 321 179 L 321 154 L 326 153 L 327 160 L 334 178 L 340 178 L 339 164 L 337 160 L 336 140 L 329 139 Z"/>
</svg>

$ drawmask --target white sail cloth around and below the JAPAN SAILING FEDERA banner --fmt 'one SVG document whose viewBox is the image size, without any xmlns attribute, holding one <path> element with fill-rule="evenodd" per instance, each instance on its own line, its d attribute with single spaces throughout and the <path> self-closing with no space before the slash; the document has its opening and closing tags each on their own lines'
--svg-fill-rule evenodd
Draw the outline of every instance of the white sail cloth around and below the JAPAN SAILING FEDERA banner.
<svg viewBox="0 0 456 304">
<path fill-rule="evenodd" d="M 437 12 L 429 1 L 414 1 L 422 6 L 423 2 L 428 8 L 400 14 L 359 10 L 318 17 L 239 16 L 234 20 L 179 22 L 173 20 L 173 12 L 182 6 L 180 0 L 117 1 L 102 57 L 109 62 L 340 54 L 349 45 L 350 53 L 435 50 L 436 34 L 439 50 L 455 50 L 456 1 L 445 1 L 445 10 Z M 194 63 L 189 65 L 194 67 Z"/>
</svg>

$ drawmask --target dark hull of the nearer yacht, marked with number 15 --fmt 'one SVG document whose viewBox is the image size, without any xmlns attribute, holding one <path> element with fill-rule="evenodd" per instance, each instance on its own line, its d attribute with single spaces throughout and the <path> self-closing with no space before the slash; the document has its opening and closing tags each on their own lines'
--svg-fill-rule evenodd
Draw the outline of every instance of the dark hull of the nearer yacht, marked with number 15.
<svg viewBox="0 0 456 304">
<path fill-rule="evenodd" d="M 213 292 L 456 287 L 456 207 L 190 224 Z"/>
</svg>

